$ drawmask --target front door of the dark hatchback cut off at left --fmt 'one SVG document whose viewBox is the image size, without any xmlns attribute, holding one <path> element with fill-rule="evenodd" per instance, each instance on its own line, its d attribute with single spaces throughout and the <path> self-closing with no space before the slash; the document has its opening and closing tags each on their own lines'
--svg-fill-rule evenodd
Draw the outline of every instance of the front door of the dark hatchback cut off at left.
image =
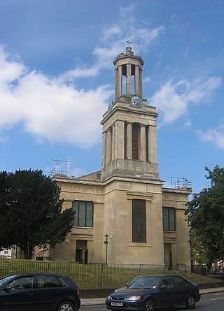
<svg viewBox="0 0 224 311">
<path fill-rule="evenodd" d="M 11 289 L 4 290 L 6 287 Z M 1 309 L 10 311 L 35 311 L 34 276 L 18 277 L 1 289 Z"/>
</svg>

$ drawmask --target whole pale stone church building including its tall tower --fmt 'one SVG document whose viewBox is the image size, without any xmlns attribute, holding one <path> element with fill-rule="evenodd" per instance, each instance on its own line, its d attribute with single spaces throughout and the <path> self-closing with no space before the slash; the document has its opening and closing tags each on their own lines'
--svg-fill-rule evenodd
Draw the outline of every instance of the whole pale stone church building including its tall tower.
<svg viewBox="0 0 224 311">
<path fill-rule="evenodd" d="M 54 175 L 63 208 L 76 210 L 53 261 L 190 266 L 184 212 L 191 187 L 163 187 L 156 108 L 142 89 L 143 59 L 129 43 L 113 62 L 115 96 L 102 117 L 102 168 L 79 178 Z"/>
</svg>

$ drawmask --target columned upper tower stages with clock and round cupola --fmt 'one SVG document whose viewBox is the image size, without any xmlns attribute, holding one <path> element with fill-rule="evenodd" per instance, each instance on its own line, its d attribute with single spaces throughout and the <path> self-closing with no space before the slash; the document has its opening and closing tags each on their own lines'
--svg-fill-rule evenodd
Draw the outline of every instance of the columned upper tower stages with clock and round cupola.
<svg viewBox="0 0 224 311">
<path fill-rule="evenodd" d="M 130 42 L 116 57 L 115 99 L 104 114 L 102 181 L 114 177 L 159 180 L 155 107 L 142 95 L 141 57 Z"/>
</svg>

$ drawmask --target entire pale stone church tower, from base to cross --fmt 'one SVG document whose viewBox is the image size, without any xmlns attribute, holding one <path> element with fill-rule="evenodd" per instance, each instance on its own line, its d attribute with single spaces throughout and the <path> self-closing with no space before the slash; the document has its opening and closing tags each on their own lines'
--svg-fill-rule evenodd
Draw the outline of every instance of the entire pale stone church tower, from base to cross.
<svg viewBox="0 0 224 311">
<path fill-rule="evenodd" d="M 109 261 L 164 263 L 162 185 L 155 107 L 142 94 L 144 61 L 130 46 L 116 57 L 115 99 L 104 114 L 102 182 Z"/>
</svg>

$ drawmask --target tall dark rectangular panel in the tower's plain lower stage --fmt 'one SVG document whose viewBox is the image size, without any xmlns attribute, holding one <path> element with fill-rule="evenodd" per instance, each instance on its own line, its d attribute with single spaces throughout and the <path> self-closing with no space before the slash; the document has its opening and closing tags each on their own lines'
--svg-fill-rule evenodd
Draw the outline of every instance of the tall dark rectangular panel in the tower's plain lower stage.
<svg viewBox="0 0 224 311">
<path fill-rule="evenodd" d="M 146 201 L 132 201 L 132 242 L 146 243 Z"/>
</svg>

